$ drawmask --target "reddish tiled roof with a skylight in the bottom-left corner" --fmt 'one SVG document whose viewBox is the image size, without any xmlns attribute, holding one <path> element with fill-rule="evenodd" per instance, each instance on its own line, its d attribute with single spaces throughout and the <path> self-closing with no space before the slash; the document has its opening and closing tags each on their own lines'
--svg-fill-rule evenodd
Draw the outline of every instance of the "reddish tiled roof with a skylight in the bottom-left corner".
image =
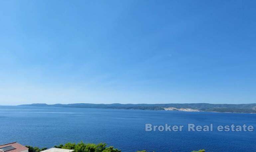
<svg viewBox="0 0 256 152">
<path fill-rule="evenodd" d="M 13 148 L 10 148 L 13 147 Z M 12 143 L 7 143 L 0 145 L 0 152 L 21 152 L 24 150 L 28 150 L 29 148 L 17 143 L 17 142 L 12 142 Z"/>
</svg>

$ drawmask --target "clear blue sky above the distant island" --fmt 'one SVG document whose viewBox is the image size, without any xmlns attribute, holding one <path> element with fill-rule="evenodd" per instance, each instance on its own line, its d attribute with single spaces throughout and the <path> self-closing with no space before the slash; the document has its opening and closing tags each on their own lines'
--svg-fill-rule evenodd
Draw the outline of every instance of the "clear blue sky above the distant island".
<svg viewBox="0 0 256 152">
<path fill-rule="evenodd" d="M 0 105 L 256 103 L 256 1 L 0 1 Z"/>
</svg>

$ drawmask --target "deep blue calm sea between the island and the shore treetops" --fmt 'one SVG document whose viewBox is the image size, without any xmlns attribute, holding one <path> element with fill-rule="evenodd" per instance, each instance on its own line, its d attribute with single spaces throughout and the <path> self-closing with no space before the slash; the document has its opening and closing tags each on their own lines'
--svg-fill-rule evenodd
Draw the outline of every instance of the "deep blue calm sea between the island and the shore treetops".
<svg viewBox="0 0 256 152">
<path fill-rule="evenodd" d="M 145 124 L 184 125 L 182 132 L 146 132 Z M 188 132 L 188 124 L 212 132 Z M 51 148 L 66 142 L 105 142 L 122 152 L 255 152 L 256 131 L 218 132 L 218 125 L 253 125 L 256 114 L 0 106 L 0 144 Z"/>
</svg>

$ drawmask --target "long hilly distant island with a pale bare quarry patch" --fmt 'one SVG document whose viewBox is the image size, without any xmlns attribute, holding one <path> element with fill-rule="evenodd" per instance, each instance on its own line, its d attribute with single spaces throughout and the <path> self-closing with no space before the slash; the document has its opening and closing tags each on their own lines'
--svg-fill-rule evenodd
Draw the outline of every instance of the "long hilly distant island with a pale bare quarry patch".
<svg viewBox="0 0 256 152">
<path fill-rule="evenodd" d="M 206 111 L 206 112 L 233 112 L 256 113 L 256 103 L 251 104 L 210 104 L 210 103 L 168 103 L 168 104 L 23 104 L 19 106 L 40 107 L 69 107 L 69 108 L 105 108 L 105 109 L 140 109 L 140 110 L 167 110 L 167 111 Z"/>
</svg>

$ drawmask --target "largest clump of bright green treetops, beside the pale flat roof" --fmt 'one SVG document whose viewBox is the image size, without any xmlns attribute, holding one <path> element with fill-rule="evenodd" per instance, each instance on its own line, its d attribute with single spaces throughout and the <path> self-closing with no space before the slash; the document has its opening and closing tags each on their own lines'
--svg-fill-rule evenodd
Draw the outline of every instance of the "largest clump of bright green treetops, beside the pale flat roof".
<svg viewBox="0 0 256 152">
<path fill-rule="evenodd" d="M 106 143 L 83 143 L 82 141 L 75 143 L 66 143 L 61 144 L 59 146 L 54 146 L 55 148 L 63 148 L 63 149 L 73 149 L 74 152 L 121 152 L 121 150 L 115 149 L 114 147 L 106 147 Z"/>
</svg>

